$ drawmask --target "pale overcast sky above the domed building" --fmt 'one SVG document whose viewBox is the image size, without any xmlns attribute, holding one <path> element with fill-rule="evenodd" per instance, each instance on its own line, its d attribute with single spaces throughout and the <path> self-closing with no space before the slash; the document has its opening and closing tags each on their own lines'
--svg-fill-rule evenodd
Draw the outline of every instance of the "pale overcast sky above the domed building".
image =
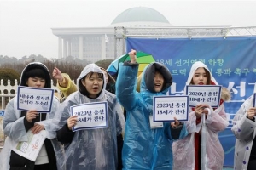
<svg viewBox="0 0 256 170">
<path fill-rule="evenodd" d="M 51 28 L 109 26 L 125 9 L 139 6 L 154 8 L 173 26 L 256 26 L 256 0 L 0 0 L 0 55 L 57 58 Z"/>
</svg>

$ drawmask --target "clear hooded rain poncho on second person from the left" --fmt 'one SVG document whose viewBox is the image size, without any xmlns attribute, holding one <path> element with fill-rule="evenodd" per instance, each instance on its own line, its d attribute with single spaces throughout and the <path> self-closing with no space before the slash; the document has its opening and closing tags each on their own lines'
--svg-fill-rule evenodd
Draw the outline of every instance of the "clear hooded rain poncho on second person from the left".
<svg viewBox="0 0 256 170">
<path fill-rule="evenodd" d="M 80 80 L 90 72 L 102 73 L 97 65 L 87 65 L 77 79 L 78 86 L 81 83 Z M 54 123 L 57 129 L 61 129 L 67 126 L 67 119 L 71 116 L 70 106 L 108 102 L 108 127 L 74 132 L 72 141 L 65 144 L 65 156 L 61 157 L 63 169 L 115 170 L 117 167 L 117 136 L 122 133 L 125 119 L 116 96 L 105 90 L 105 82 L 104 77 L 102 92 L 96 99 L 90 99 L 77 91 L 70 94 L 57 111 L 58 116 L 55 117 Z M 70 131 L 70 133 L 73 132 Z"/>
</svg>

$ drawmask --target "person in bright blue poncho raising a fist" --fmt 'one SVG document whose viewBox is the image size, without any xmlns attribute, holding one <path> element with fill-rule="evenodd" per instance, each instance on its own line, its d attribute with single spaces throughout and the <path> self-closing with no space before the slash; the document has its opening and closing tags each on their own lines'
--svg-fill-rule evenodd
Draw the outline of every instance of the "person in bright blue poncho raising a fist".
<svg viewBox="0 0 256 170">
<path fill-rule="evenodd" d="M 143 71 L 140 93 L 136 91 L 138 63 L 136 50 L 129 53 L 131 62 L 119 65 L 116 95 L 126 110 L 123 169 L 172 169 L 172 141 L 182 139 L 186 128 L 177 121 L 153 122 L 153 97 L 166 96 L 172 74 L 158 62 Z"/>
</svg>

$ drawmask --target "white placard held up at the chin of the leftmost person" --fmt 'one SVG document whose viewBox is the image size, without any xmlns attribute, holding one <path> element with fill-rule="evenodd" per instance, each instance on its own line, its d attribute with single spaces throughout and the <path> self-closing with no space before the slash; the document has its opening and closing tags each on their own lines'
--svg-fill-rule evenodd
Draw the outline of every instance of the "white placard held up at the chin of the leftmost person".
<svg viewBox="0 0 256 170">
<path fill-rule="evenodd" d="M 18 87 L 17 107 L 21 111 L 50 112 L 54 89 Z"/>
</svg>

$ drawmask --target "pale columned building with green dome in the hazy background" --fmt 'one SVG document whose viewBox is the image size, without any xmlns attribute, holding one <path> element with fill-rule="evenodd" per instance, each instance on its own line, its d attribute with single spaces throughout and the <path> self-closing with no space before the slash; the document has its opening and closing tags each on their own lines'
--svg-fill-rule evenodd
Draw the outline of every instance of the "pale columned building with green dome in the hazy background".
<svg viewBox="0 0 256 170">
<path fill-rule="evenodd" d="M 117 28 L 121 29 L 117 36 Z M 144 35 L 145 37 L 225 37 L 230 26 L 172 26 L 166 17 L 153 8 L 128 8 L 119 14 L 106 27 L 84 28 L 52 28 L 53 34 L 59 38 L 58 59 L 72 56 L 86 59 L 92 63 L 103 59 L 116 59 L 124 54 L 125 36 Z M 143 30 L 144 29 L 144 30 Z M 147 30 L 146 30 L 147 29 Z M 128 31 L 127 31 L 128 30 Z M 124 31 L 124 32 L 122 32 Z M 140 34 L 141 33 L 141 34 Z M 146 34 L 146 35 L 145 35 Z M 117 52 L 118 38 L 122 50 Z M 121 43 L 120 43 L 121 42 Z"/>
</svg>

